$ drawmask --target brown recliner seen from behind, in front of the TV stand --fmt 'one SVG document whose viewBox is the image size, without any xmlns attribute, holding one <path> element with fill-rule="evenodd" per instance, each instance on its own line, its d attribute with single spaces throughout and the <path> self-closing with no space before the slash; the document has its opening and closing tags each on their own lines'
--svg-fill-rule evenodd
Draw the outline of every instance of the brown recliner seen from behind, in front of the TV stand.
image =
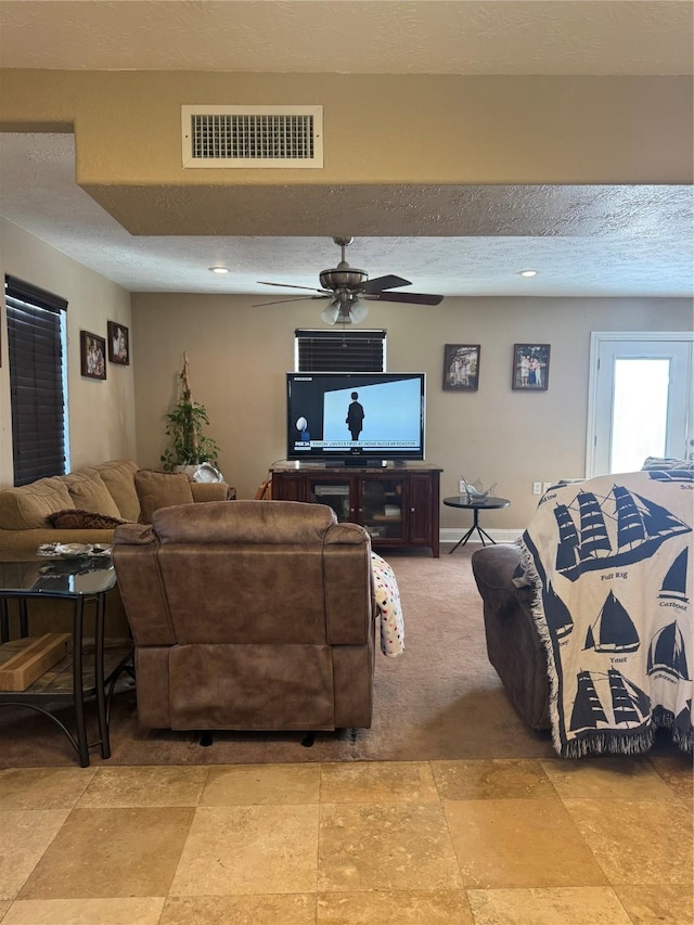
<svg viewBox="0 0 694 925">
<path fill-rule="evenodd" d="M 224 501 L 114 534 L 144 727 L 368 728 L 371 541 L 322 504 Z"/>
</svg>

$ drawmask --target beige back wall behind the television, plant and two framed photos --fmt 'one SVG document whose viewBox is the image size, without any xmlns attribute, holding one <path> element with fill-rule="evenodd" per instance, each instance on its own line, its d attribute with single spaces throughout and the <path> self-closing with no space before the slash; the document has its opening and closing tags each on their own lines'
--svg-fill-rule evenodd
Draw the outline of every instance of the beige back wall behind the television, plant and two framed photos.
<svg viewBox="0 0 694 925">
<path fill-rule="evenodd" d="M 252 308 L 250 296 L 133 295 L 137 440 L 141 465 L 157 466 L 164 415 L 189 355 L 193 397 L 240 498 L 253 498 L 285 454 L 284 373 L 294 330 L 321 327 L 316 305 Z M 378 304 L 367 322 L 388 332 L 388 369 L 427 374 L 427 461 L 442 466 L 442 494 L 461 474 L 496 481 L 509 511 L 486 525 L 520 528 L 537 505 L 532 481 L 584 474 L 591 331 L 686 331 L 689 299 L 446 298 L 436 308 Z M 364 325 L 361 325 L 362 327 Z M 548 391 L 511 389 L 514 343 L 551 345 Z M 480 344 L 476 393 L 444 391 L 445 344 Z M 441 527 L 463 517 L 441 510 Z"/>
</svg>

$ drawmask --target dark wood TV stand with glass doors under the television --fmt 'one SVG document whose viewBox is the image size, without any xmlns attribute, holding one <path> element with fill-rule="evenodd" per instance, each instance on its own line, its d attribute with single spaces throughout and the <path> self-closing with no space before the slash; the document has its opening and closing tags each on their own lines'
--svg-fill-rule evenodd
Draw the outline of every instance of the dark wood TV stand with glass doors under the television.
<svg viewBox="0 0 694 925">
<path fill-rule="evenodd" d="M 282 462 L 271 466 L 272 498 L 327 504 L 338 521 L 361 524 L 378 547 L 428 547 L 439 555 L 440 466 L 355 466 Z"/>
</svg>

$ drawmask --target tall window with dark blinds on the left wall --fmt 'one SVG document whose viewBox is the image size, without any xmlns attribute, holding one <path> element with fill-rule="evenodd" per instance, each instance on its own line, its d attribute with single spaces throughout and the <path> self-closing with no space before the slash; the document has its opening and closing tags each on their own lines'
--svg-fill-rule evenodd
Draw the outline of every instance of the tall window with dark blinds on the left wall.
<svg viewBox="0 0 694 925">
<path fill-rule="evenodd" d="M 67 471 L 67 301 L 5 277 L 15 486 Z"/>
</svg>

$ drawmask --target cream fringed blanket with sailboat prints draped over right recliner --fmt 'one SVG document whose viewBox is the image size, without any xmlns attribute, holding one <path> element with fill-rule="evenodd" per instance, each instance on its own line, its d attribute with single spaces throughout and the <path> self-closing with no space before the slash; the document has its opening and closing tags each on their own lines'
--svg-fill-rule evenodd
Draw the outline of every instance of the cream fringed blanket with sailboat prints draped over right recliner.
<svg viewBox="0 0 694 925">
<path fill-rule="evenodd" d="M 658 727 L 692 750 L 693 511 L 689 470 L 600 476 L 551 488 L 518 540 L 561 756 L 642 753 Z"/>
</svg>

